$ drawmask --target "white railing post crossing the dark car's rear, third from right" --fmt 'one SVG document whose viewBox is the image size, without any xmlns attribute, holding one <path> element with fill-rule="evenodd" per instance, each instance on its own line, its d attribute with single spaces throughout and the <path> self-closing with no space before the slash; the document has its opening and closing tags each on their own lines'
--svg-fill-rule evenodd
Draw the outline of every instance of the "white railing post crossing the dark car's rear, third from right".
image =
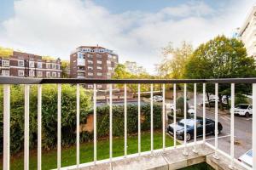
<svg viewBox="0 0 256 170">
<path fill-rule="evenodd" d="M 218 159 L 218 83 L 215 83 L 215 153 L 214 158 Z"/>
</svg>

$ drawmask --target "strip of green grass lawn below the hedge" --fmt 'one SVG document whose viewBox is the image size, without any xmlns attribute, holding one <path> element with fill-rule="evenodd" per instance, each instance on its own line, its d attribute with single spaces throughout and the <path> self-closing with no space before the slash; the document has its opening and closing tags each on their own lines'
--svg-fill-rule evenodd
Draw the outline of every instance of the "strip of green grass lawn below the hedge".
<svg viewBox="0 0 256 170">
<path fill-rule="evenodd" d="M 113 157 L 124 156 L 124 137 L 113 138 Z M 127 139 L 128 154 L 137 153 L 137 135 L 128 136 Z M 172 146 L 173 139 L 166 135 L 166 146 Z M 142 133 L 141 139 L 142 151 L 150 150 L 150 132 Z M 162 133 L 154 132 L 154 149 L 162 148 Z M 109 156 L 109 141 L 97 141 L 97 160 L 108 159 Z M 30 151 L 30 169 L 37 169 L 37 150 Z M 23 169 L 23 153 L 12 156 L 10 162 L 11 169 Z M 80 163 L 93 161 L 93 142 L 80 144 Z M 3 168 L 1 162 L 0 169 Z M 76 145 L 69 148 L 61 148 L 61 167 L 67 167 L 76 164 Z M 44 151 L 42 154 L 42 169 L 52 169 L 57 167 L 57 151 Z"/>
</svg>

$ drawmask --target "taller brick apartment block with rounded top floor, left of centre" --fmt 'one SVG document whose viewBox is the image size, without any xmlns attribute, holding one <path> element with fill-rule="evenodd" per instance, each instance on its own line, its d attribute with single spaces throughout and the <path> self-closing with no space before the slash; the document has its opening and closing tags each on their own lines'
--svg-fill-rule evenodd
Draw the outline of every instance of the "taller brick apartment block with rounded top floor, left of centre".
<svg viewBox="0 0 256 170">
<path fill-rule="evenodd" d="M 110 79 L 118 61 L 118 55 L 112 50 L 99 46 L 81 46 L 70 55 L 70 77 Z M 86 86 L 93 88 L 92 84 Z M 105 89 L 107 86 L 99 84 L 97 88 Z"/>
</svg>

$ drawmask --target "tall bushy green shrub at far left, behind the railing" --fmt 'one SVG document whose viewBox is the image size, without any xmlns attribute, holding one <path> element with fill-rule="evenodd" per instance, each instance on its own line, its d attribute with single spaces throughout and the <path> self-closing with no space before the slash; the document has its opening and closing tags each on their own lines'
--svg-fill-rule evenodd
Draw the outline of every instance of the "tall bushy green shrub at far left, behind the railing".
<svg viewBox="0 0 256 170">
<path fill-rule="evenodd" d="M 57 87 L 44 85 L 42 89 L 42 147 L 53 148 L 57 142 Z M 30 147 L 38 142 L 38 93 L 37 86 L 30 89 Z M 3 153 L 3 89 L 0 90 L 0 153 Z M 24 145 L 24 86 L 12 86 L 10 95 L 10 150 L 15 153 Z M 80 88 L 80 114 L 86 117 L 90 109 L 90 93 Z M 75 143 L 76 88 L 62 85 L 61 90 L 61 142 Z M 82 119 L 83 122 L 85 119 Z"/>
</svg>

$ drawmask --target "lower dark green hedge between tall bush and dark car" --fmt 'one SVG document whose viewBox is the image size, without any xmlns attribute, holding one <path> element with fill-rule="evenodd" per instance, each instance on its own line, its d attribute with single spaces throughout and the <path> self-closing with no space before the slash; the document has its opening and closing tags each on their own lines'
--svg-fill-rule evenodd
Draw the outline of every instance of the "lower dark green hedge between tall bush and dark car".
<svg viewBox="0 0 256 170">
<path fill-rule="evenodd" d="M 154 105 L 154 129 L 161 127 L 161 106 Z M 123 136 L 125 130 L 124 106 L 113 106 L 113 136 Z M 137 105 L 127 105 L 127 133 L 137 133 Z M 141 106 L 141 130 L 150 129 L 150 105 Z M 103 137 L 109 133 L 109 107 L 97 108 L 97 136 Z"/>
</svg>

